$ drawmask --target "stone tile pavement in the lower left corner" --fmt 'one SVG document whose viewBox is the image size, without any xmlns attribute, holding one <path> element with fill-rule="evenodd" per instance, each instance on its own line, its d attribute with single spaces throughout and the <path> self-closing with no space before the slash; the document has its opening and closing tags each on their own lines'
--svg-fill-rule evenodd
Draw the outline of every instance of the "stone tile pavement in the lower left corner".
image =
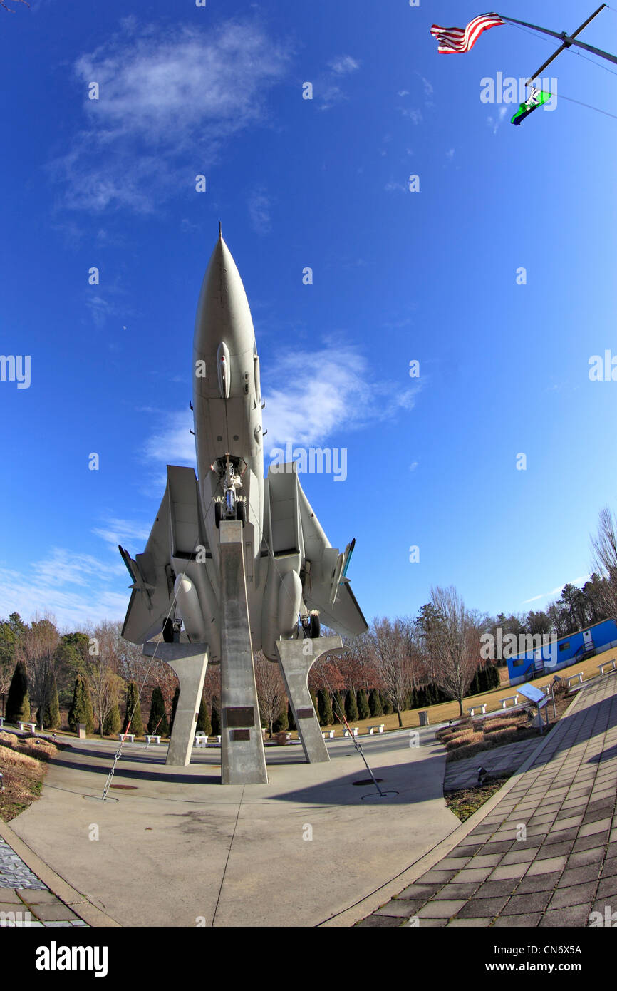
<svg viewBox="0 0 617 991">
<path fill-rule="evenodd" d="M 0 928 L 86 925 L 0 840 Z"/>
</svg>

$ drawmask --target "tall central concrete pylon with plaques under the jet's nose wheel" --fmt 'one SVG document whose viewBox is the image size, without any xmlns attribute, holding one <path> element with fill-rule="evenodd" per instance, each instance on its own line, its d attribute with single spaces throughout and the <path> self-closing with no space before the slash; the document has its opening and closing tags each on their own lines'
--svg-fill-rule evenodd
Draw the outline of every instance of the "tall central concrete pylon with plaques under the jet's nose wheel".
<svg viewBox="0 0 617 991">
<path fill-rule="evenodd" d="M 221 562 L 221 783 L 266 785 L 247 604 L 243 526 L 222 520 Z"/>
</svg>

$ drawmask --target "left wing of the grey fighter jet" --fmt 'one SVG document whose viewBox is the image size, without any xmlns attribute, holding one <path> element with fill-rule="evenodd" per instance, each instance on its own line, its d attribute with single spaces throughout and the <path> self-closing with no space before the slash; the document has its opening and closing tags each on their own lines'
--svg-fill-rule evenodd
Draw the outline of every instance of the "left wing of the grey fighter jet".
<svg viewBox="0 0 617 991">
<path fill-rule="evenodd" d="M 133 579 L 130 586 L 133 592 L 122 635 L 131 643 L 145 643 L 160 633 L 173 602 L 168 488 L 156 513 L 144 553 L 133 560 L 128 551 L 122 547 L 119 550 Z"/>
</svg>

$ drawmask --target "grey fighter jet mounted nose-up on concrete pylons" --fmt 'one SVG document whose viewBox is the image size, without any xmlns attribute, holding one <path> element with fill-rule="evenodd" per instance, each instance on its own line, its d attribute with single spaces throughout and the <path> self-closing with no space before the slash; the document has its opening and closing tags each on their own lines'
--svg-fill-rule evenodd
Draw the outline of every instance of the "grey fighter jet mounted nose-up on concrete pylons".
<svg viewBox="0 0 617 991">
<path fill-rule="evenodd" d="M 167 485 L 143 554 L 120 547 L 132 579 L 122 635 L 142 644 L 206 643 L 221 659 L 218 528 L 243 524 L 254 650 L 276 659 L 274 642 L 366 629 L 347 571 L 356 541 L 330 545 L 302 491 L 297 463 L 263 478 L 259 359 L 242 279 L 219 229 L 204 275 L 193 338 L 193 409 L 198 478 L 167 466 Z"/>
</svg>

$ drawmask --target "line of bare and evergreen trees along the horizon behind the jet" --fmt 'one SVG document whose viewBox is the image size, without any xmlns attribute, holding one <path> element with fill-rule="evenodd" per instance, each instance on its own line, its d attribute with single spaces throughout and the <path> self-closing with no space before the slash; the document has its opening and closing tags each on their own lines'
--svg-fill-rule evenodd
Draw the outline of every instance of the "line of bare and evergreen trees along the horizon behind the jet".
<svg viewBox="0 0 617 991">
<path fill-rule="evenodd" d="M 617 517 L 600 512 L 591 541 L 593 574 L 581 589 L 566 585 L 546 609 L 496 616 L 465 606 L 454 587 L 431 590 L 430 601 L 415 617 L 375 617 L 360 637 L 344 638 L 342 653 L 325 654 L 313 665 L 309 688 L 322 725 L 337 719 L 378 718 L 439 702 L 458 702 L 499 683 L 496 662 L 483 661 L 480 637 L 495 633 L 571 632 L 617 615 Z M 101 735 L 126 729 L 141 735 L 142 704 L 149 705 L 148 729 L 166 735 L 179 694 L 168 665 L 144 657 L 142 648 L 124 640 L 120 621 L 60 633 L 53 617 L 31 623 L 17 612 L 0 621 L 0 694 L 9 692 L 9 712 L 47 728 L 68 711 L 71 727 L 85 722 Z M 324 632 L 328 632 L 324 630 Z M 278 665 L 262 653 L 255 657 L 262 725 L 270 734 L 295 728 Z M 14 684 L 13 684 L 14 683 Z M 11 691 L 9 688 L 11 687 Z M 220 733 L 220 668 L 208 668 L 197 728 Z M 91 727 L 91 728 L 90 728 Z"/>
</svg>

